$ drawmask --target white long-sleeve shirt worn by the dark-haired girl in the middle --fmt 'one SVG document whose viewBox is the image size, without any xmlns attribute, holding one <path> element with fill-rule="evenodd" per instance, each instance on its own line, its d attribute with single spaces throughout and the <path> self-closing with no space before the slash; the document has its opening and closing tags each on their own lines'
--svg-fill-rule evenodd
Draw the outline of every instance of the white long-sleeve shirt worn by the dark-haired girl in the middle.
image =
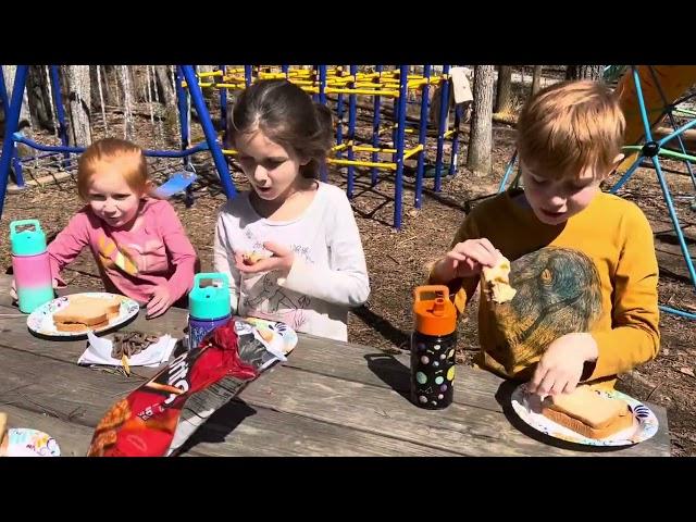
<svg viewBox="0 0 696 522">
<path fill-rule="evenodd" d="M 241 274 L 234 254 L 264 252 L 276 243 L 295 252 L 287 277 L 277 272 Z M 362 304 L 370 282 L 360 233 L 346 194 L 319 183 L 314 199 L 291 221 L 261 217 L 241 192 L 220 211 L 214 265 L 229 276 L 233 311 L 282 321 L 297 332 L 348 339 L 348 309 Z"/>
</svg>

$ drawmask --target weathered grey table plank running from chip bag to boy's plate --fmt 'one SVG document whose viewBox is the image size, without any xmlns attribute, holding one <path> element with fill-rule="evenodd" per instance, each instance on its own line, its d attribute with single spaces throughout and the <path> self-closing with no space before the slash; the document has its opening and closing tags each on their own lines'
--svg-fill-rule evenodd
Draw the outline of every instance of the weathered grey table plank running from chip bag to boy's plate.
<svg viewBox="0 0 696 522">
<path fill-rule="evenodd" d="M 291 368 L 283 370 L 259 380 L 254 386 L 249 386 L 243 391 L 240 397 L 253 407 L 262 406 L 337 425 L 352 426 L 460 455 L 580 453 L 568 449 L 577 446 L 556 442 L 550 437 L 546 437 L 549 444 L 544 444 L 523 434 L 512 424 L 520 422 L 513 412 L 504 414 L 459 403 L 440 411 L 427 411 L 411 405 L 394 390 L 385 393 L 383 388 L 353 381 L 336 380 Z M 499 395 L 506 396 L 509 390 L 509 383 L 505 383 Z M 591 448 L 579 449 L 583 449 L 582 455 L 597 455 L 588 451 Z M 669 455 L 669 448 L 663 448 L 652 439 L 632 448 L 601 455 L 621 453 Z"/>
</svg>

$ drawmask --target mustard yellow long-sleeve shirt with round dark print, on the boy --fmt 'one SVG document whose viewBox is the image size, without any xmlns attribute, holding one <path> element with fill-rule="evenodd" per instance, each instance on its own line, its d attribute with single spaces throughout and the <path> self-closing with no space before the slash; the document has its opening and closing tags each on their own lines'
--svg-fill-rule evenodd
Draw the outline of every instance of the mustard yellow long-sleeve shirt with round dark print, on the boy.
<svg viewBox="0 0 696 522">
<path fill-rule="evenodd" d="M 658 265 L 652 231 L 634 203 L 599 192 L 560 225 L 539 222 L 508 191 L 480 203 L 452 246 L 485 237 L 511 261 L 515 297 L 502 304 L 481 296 L 477 361 L 507 377 L 529 380 L 549 343 L 588 332 L 599 357 L 583 381 L 613 385 L 616 374 L 657 356 Z M 480 278 L 448 283 L 461 314 Z M 431 275 L 431 283 L 437 283 Z"/>
</svg>

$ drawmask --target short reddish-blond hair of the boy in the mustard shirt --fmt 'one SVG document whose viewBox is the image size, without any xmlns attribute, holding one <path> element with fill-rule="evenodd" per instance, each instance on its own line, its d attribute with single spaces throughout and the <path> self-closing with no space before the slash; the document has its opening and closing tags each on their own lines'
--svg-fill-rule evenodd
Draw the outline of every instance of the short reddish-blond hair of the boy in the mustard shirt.
<svg viewBox="0 0 696 522">
<path fill-rule="evenodd" d="M 542 177 L 609 174 L 621 152 L 625 119 L 617 96 L 598 82 L 562 82 L 539 90 L 518 121 L 520 160 Z"/>
</svg>

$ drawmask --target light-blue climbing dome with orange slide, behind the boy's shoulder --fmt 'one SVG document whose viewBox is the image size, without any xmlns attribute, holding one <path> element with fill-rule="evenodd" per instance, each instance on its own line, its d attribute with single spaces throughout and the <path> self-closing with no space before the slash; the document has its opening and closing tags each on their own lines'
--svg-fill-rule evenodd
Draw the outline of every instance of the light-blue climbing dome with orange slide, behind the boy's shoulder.
<svg viewBox="0 0 696 522">
<path fill-rule="evenodd" d="M 696 162 L 696 157 L 687 152 L 683 139 L 684 133 L 696 127 L 696 112 L 680 108 L 680 104 L 696 97 L 696 94 L 687 94 L 688 89 L 696 84 L 696 66 L 631 65 L 630 67 L 623 67 L 623 71 L 625 72 L 620 77 L 616 91 L 626 120 L 624 142 L 629 145 L 623 147 L 626 158 L 618 167 L 618 173 L 621 174 L 621 177 L 609 189 L 609 192 L 618 192 L 635 171 L 642 166 L 644 160 L 651 162 L 688 276 L 696 289 L 694 261 L 684 238 L 664 171 L 660 164 L 660 159 L 684 162 L 694 187 L 694 196 L 696 197 L 696 176 L 692 164 Z M 612 74 L 616 74 L 616 70 L 612 71 Z M 678 117 L 689 121 L 679 125 Z M 656 139 L 656 126 L 664 121 L 669 122 L 672 130 L 662 138 Z M 674 141 L 679 147 L 678 149 L 673 146 Z M 499 192 L 505 189 L 517 159 L 515 151 L 500 182 Z M 517 184 L 518 182 L 519 173 L 512 183 Z M 692 204 L 692 209 L 694 209 L 694 204 Z M 660 309 L 687 319 L 696 319 L 696 314 L 684 310 L 667 306 L 660 306 Z"/>
</svg>

